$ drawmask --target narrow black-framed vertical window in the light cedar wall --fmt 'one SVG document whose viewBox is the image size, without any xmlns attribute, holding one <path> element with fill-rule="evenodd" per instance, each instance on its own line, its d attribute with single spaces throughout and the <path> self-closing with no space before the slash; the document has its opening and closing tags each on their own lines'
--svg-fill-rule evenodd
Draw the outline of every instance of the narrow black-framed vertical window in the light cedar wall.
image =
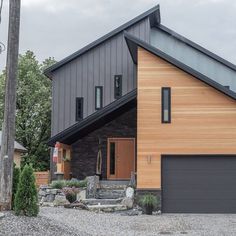
<svg viewBox="0 0 236 236">
<path fill-rule="evenodd" d="M 171 122 L 171 89 L 162 88 L 161 90 L 161 101 L 162 101 L 162 111 L 161 120 L 162 123 Z"/>
</svg>

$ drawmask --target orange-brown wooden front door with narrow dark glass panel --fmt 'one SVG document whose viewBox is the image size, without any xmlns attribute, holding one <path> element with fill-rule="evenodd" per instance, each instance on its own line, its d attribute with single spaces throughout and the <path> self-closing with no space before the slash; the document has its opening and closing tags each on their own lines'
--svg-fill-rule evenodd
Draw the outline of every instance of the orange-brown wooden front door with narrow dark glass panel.
<svg viewBox="0 0 236 236">
<path fill-rule="evenodd" d="M 110 138 L 107 148 L 107 178 L 130 179 L 135 170 L 135 139 Z"/>
</svg>

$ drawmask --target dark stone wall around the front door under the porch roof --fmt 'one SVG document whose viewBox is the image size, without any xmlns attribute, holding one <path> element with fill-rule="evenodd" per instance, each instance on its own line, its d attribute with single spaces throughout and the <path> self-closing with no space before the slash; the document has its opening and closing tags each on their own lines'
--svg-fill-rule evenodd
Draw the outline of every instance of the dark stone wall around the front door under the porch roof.
<svg viewBox="0 0 236 236">
<path fill-rule="evenodd" d="M 95 175 L 100 139 L 102 148 L 102 179 L 106 179 L 107 138 L 136 138 L 136 136 L 137 109 L 133 108 L 72 145 L 72 177 L 84 179 L 86 176 Z"/>
</svg>

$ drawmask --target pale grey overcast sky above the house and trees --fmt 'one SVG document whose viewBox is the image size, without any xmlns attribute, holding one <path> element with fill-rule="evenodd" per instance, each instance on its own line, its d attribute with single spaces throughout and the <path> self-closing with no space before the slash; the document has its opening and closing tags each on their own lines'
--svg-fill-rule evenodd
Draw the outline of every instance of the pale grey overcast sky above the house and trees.
<svg viewBox="0 0 236 236">
<path fill-rule="evenodd" d="M 0 41 L 7 43 L 8 1 Z M 22 0 L 20 53 L 63 59 L 160 3 L 162 24 L 236 64 L 235 0 Z M 0 54 L 0 71 L 6 51 Z"/>
</svg>

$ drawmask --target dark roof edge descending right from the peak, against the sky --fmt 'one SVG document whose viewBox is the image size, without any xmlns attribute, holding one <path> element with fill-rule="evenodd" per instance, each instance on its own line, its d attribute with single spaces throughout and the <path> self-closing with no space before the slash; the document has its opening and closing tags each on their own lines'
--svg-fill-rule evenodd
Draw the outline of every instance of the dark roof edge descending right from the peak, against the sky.
<svg viewBox="0 0 236 236">
<path fill-rule="evenodd" d="M 194 49 L 196 49 L 196 50 L 198 50 L 198 51 L 204 53 L 205 55 L 207 55 L 207 56 L 211 57 L 212 59 L 214 59 L 214 60 L 220 62 L 221 64 L 223 64 L 223 65 L 229 67 L 230 69 L 236 71 L 236 65 L 234 65 L 233 63 L 231 63 L 231 62 L 225 60 L 224 58 L 222 58 L 222 57 L 216 55 L 215 53 L 213 53 L 213 52 L 207 50 L 206 48 L 204 48 L 204 47 L 202 47 L 202 46 L 200 46 L 200 45 L 194 43 L 193 41 L 191 41 L 191 40 L 185 38 L 184 36 L 182 36 L 182 35 L 176 33 L 175 31 L 173 31 L 173 30 L 167 28 L 166 26 L 164 26 L 164 25 L 162 25 L 162 24 L 155 24 L 154 27 L 156 27 L 157 29 L 159 29 L 159 30 L 161 30 L 161 31 L 163 31 L 163 32 L 165 32 L 165 33 L 171 35 L 172 37 L 174 37 L 174 38 L 176 38 L 176 39 L 178 39 L 178 40 L 180 40 L 181 42 L 187 44 L 188 46 L 190 46 L 190 47 L 192 47 L 192 48 L 194 48 Z"/>
</svg>

